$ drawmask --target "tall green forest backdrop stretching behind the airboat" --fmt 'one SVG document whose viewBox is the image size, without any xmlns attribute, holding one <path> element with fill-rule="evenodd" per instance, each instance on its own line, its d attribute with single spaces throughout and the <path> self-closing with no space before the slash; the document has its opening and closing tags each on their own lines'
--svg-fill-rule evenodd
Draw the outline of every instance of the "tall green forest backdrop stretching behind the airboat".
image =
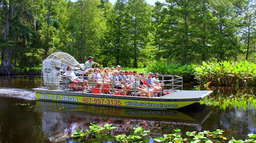
<svg viewBox="0 0 256 143">
<path fill-rule="evenodd" d="M 0 74 L 56 51 L 84 63 L 256 63 L 255 0 L 0 0 Z"/>
</svg>

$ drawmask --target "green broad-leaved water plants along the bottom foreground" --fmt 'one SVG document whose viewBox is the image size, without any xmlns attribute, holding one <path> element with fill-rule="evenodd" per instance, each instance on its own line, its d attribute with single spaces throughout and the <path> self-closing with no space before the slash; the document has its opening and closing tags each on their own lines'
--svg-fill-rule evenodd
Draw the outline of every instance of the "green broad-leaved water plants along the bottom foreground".
<svg viewBox="0 0 256 143">
<path fill-rule="evenodd" d="M 148 142 L 150 140 L 150 136 L 148 135 L 150 131 L 144 130 L 142 127 L 135 127 L 133 134 L 117 134 L 115 137 L 111 134 L 111 130 L 118 130 L 117 127 L 112 126 L 113 124 L 105 124 L 104 126 L 99 126 L 97 124 L 90 123 L 90 130 L 86 130 L 85 132 L 81 132 L 77 130 L 76 133 L 72 135 L 73 140 L 79 142 L 102 142 L 108 140 L 115 140 L 117 142 Z M 229 142 L 229 143 L 253 143 L 256 141 L 256 134 L 248 134 L 248 138 L 245 140 L 236 140 L 233 137 L 231 139 L 225 137 L 223 135 L 224 131 L 216 129 L 213 132 L 203 131 L 203 132 L 186 132 L 186 135 L 181 134 L 180 129 L 174 129 L 170 134 L 163 134 L 160 137 L 153 138 L 154 142 L 162 142 L 162 143 L 213 143 L 213 142 Z"/>
</svg>

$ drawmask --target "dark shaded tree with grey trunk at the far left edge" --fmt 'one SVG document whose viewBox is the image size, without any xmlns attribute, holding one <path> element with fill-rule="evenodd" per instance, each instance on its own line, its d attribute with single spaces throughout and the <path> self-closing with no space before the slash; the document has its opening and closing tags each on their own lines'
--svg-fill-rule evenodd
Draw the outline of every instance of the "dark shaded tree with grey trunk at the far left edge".
<svg viewBox="0 0 256 143">
<path fill-rule="evenodd" d="M 33 30 L 36 28 L 36 22 L 30 2 L 25 0 L 1 1 L 1 10 L 4 14 L 1 15 L 3 41 L 1 44 L 2 62 L 0 74 L 13 74 L 13 49 L 19 45 L 26 47 L 28 45 L 28 39 L 32 39 L 35 36 Z M 14 51 L 16 52 L 17 50 L 19 48 Z M 16 60 L 14 58 L 14 61 Z"/>
</svg>

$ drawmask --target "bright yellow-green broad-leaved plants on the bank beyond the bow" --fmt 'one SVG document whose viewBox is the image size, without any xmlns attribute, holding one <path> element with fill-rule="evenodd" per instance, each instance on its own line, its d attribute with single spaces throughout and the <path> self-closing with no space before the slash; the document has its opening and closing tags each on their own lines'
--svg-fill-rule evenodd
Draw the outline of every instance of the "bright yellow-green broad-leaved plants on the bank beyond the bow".
<svg viewBox="0 0 256 143">
<path fill-rule="evenodd" d="M 256 86 L 256 64 L 244 62 L 203 62 L 195 67 L 195 78 L 201 84 L 217 86 Z"/>
</svg>

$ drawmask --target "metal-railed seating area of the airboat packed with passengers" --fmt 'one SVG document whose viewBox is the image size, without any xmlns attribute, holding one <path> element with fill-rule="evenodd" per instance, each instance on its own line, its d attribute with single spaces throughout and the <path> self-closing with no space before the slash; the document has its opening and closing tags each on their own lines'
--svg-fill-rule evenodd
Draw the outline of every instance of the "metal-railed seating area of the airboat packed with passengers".
<svg viewBox="0 0 256 143">
<path fill-rule="evenodd" d="M 119 76 L 118 82 L 122 83 L 115 83 L 117 76 L 110 73 L 97 73 L 96 75 L 92 72 L 79 71 L 77 77 L 81 81 L 71 81 L 64 73 L 51 77 L 42 75 L 41 85 L 43 84 L 43 88 L 47 89 L 134 97 L 162 97 L 183 90 L 183 78 L 176 75 L 159 74 L 159 78 L 152 80 L 153 83 L 149 84 L 147 77 L 142 75 Z M 120 78 L 123 81 L 119 80 Z"/>
</svg>

